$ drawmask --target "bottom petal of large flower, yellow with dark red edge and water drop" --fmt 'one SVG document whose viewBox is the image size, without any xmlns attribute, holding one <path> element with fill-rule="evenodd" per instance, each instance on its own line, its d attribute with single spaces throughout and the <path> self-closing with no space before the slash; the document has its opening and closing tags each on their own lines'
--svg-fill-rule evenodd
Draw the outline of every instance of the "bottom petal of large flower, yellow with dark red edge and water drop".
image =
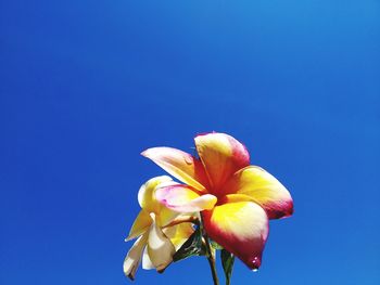
<svg viewBox="0 0 380 285">
<path fill-rule="evenodd" d="M 206 233 L 240 258 L 250 269 L 258 269 L 268 236 L 268 217 L 253 202 L 236 202 L 203 211 Z"/>
</svg>

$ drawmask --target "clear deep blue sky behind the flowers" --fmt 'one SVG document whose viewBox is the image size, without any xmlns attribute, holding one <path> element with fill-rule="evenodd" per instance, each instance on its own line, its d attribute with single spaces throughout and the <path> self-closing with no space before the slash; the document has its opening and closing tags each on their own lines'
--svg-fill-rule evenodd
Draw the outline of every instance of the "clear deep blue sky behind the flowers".
<svg viewBox="0 0 380 285">
<path fill-rule="evenodd" d="M 1 1 L 0 79 L 1 284 L 129 284 L 140 152 L 212 130 L 295 203 L 232 284 L 380 284 L 379 1 Z"/>
</svg>

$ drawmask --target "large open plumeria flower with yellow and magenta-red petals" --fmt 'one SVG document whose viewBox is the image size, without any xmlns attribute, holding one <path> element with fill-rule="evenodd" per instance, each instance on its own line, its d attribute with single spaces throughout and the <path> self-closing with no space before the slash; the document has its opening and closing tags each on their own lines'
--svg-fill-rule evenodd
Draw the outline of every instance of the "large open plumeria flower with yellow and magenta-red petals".
<svg viewBox="0 0 380 285">
<path fill-rule="evenodd" d="M 142 153 L 185 183 L 160 187 L 156 198 L 178 212 L 201 211 L 207 235 L 258 269 L 268 220 L 292 215 L 291 195 L 263 168 L 251 166 L 249 152 L 232 137 L 201 134 L 195 147 L 199 158 L 172 147 Z"/>
</svg>

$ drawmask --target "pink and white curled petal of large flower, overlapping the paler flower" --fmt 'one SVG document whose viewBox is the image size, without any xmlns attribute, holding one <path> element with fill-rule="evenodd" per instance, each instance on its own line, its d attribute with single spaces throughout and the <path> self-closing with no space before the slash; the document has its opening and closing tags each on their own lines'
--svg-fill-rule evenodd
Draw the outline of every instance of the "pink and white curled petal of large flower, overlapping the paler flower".
<svg viewBox="0 0 380 285">
<path fill-rule="evenodd" d="M 212 209 L 217 202 L 214 195 L 200 195 L 191 187 L 180 184 L 157 189 L 155 195 L 163 205 L 178 212 Z"/>
</svg>

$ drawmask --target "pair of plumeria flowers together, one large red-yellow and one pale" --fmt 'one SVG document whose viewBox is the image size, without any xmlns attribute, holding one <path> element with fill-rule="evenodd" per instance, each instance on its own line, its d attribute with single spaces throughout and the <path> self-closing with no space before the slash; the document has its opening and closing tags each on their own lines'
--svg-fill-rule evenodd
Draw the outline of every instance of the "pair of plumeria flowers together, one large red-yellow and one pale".
<svg viewBox="0 0 380 285">
<path fill-rule="evenodd" d="M 141 259 L 142 268 L 162 272 L 199 226 L 203 242 L 211 238 L 256 270 L 268 220 L 293 212 L 288 190 L 263 168 L 250 165 L 242 143 L 216 132 L 194 141 L 198 156 L 172 147 L 142 153 L 182 183 L 164 176 L 141 186 L 138 200 L 142 209 L 127 237 L 138 239 L 124 262 L 130 278 Z"/>
</svg>

